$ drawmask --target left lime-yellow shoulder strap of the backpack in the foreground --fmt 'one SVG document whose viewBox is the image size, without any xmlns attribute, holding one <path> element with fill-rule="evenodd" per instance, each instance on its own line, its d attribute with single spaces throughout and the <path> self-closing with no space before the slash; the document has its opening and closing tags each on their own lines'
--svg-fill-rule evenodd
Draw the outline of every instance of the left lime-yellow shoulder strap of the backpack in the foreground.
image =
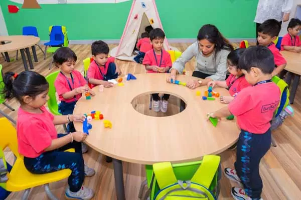
<svg viewBox="0 0 301 200">
<path fill-rule="evenodd" d="M 168 185 L 177 183 L 178 181 L 171 162 L 155 163 L 153 164 L 153 170 L 160 189 Z"/>
</svg>

